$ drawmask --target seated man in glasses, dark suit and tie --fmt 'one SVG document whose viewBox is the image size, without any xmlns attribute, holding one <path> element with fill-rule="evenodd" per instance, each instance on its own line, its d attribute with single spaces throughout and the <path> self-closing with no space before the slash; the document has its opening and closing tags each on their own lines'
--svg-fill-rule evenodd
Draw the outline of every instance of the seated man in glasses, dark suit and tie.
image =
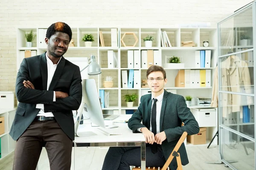
<svg viewBox="0 0 256 170">
<path fill-rule="evenodd" d="M 167 79 L 162 67 L 152 65 L 146 76 L 152 93 L 141 97 L 140 106 L 129 119 L 128 127 L 133 133 L 145 136 L 146 166 L 163 167 L 183 132 L 197 134 L 199 126 L 184 97 L 164 90 Z M 181 126 L 182 122 L 184 126 Z M 184 143 L 178 152 L 182 164 L 188 164 Z M 102 170 L 130 170 L 129 166 L 140 165 L 140 147 L 110 147 Z M 177 169 L 175 158 L 169 168 Z"/>
</svg>

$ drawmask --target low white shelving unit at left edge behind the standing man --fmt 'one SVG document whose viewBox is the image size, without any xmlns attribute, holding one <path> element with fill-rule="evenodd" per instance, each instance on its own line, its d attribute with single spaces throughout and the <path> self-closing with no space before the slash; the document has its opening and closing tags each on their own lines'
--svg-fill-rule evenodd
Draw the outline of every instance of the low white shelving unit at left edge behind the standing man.
<svg viewBox="0 0 256 170">
<path fill-rule="evenodd" d="M 1 159 L 15 150 L 16 142 L 9 135 L 16 109 L 0 109 L 0 117 L 4 117 L 5 132 L 0 135 L 1 139 Z"/>
</svg>

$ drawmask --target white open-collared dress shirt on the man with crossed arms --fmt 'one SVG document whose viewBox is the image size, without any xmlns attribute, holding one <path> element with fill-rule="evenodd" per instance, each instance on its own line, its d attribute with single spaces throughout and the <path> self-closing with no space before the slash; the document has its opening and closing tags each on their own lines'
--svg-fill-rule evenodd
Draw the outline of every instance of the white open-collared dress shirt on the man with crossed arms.
<svg viewBox="0 0 256 170">
<path fill-rule="evenodd" d="M 55 70 L 57 68 L 58 63 L 60 62 L 60 60 L 58 61 L 57 64 L 53 64 L 52 60 L 49 59 L 49 57 L 47 56 L 47 53 L 45 54 L 46 56 L 46 61 L 47 61 L 47 90 L 49 90 L 49 86 L 52 82 L 52 77 L 55 73 Z M 53 102 L 56 102 L 56 97 L 55 97 L 55 91 L 53 91 Z M 37 116 L 45 116 L 45 117 L 54 117 L 52 112 L 44 112 L 44 104 L 37 104 L 35 108 L 41 109 Z"/>
</svg>

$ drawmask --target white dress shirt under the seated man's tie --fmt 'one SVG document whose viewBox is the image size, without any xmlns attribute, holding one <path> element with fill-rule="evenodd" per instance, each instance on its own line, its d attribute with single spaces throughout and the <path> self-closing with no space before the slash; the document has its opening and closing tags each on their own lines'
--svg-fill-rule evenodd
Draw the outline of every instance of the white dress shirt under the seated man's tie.
<svg viewBox="0 0 256 170">
<path fill-rule="evenodd" d="M 156 122 L 157 122 L 157 133 L 160 133 L 160 114 L 161 114 L 161 108 L 162 108 L 162 103 L 163 103 L 163 94 L 164 94 L 164 91 L 162 94 L 160 94 L 159 96 L 155 97 L 157 99 L 157 102 L 156 102 L 156 105 L 157 105 L 157 117 L 156 117 Z M 153 107 L 153 104 L 154 104 L 154 96 L 151 95 L 151 100 L 152 100 L 152 105 L 151 105 L 151 111 L 152 111 L 152 107 Z M 140 129 L 142 127 L 138 128 L 137 130 L 139 132 Z M 151 125 L 151 119 L 150 119 L 150 129 L 149 129 L 151 132 L 152 132 L 152 125 Z"/>
</svg>

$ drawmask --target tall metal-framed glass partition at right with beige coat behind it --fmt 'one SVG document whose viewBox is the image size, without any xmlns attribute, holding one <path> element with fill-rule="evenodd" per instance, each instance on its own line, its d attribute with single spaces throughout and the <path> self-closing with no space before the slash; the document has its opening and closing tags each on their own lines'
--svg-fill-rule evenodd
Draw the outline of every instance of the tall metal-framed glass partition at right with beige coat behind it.
<svg viewBox="0 0 256 170">
<path fill-rule="evenodd" d="M 256 1 L 218 23 L 218 111 L 222 161 L 256 170 Z"/>
</svg>

